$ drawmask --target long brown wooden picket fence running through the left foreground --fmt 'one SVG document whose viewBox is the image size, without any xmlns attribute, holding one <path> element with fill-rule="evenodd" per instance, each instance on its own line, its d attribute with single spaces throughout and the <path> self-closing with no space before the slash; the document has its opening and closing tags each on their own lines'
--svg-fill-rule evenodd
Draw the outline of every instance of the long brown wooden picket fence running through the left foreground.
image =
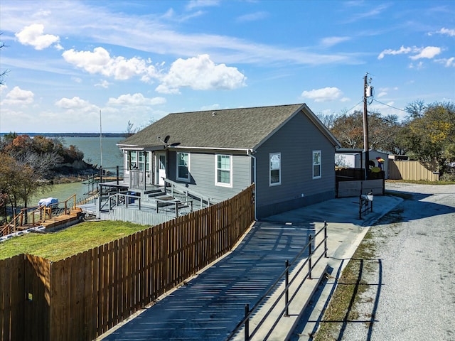
<svg viewBox="0 0 455 341">
<path fill-rule="evenodd" d="M 0 261 L 1 340 L 93 340 L 230 251 L 254 185 L 230 200 L 60 261 Z"/>
</svg>

